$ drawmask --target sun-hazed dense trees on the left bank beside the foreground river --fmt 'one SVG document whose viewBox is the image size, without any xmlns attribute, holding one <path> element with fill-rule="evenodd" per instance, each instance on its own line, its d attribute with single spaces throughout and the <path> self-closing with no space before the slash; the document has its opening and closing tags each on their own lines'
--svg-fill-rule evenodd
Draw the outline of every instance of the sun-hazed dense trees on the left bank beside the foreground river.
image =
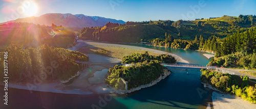
<svg viewBox="0 0 256 109">
<path fill-rule="evenodd" d="M 87 55 L 80 52 L 49 47 L 46 44 L 25 50 L 20 45 L 12 44 L 5 52 L 8 52 L 8 77 L 16 83 L 38 82 L 39 78 L 43 81 L 66 81 L 79 71 L 76 61 L 89 60 Z M 4 52 L 0 52 L 1 57 L 4 57 L 3 54 Z M 3 63 L 0 70 L 4 71 Z M 0 78 L 3 79 L 3 75 Z"/>
</svg>

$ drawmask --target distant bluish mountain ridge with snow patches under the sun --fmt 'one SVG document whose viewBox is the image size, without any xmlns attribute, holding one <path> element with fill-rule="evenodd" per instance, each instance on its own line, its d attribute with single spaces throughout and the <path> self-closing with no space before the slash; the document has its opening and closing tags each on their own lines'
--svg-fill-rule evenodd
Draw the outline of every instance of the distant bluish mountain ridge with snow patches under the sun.
<svg viewBox="0 0 256 109">
<path fill-rule="evenodd" d="M 6 23 L 13 23 L 13 22 L 26 22 L 26 23 L 34 23 L 39 25 L 47 25 L 51 26 L 55 24 L 57 26 L 63 27 L 101 27 L 104 26 L 108 22 L 111 23 L 118 23 L 118 24 L 125 24 L 123 20 L 116 20 L 112 18 L 105 18 L 100 16 L 87 16 L 83 14 L 61 14 L 61 13 L 47 13 L 41 15 L 39 17 L 27 17 L 27 18 L 18 18 L 16 20 L 7 21 Z M 6 24 L 1 23 L 1 24 Z"/>
</svg>

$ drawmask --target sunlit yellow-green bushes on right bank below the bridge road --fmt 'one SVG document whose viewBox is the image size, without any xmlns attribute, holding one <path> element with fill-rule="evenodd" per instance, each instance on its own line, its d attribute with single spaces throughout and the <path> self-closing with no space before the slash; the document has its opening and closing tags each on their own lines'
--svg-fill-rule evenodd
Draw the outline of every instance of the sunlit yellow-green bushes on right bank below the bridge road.
<svg viewBox="0 0 256 109">
<path fill-rule="evenodd" d="M 235 94 L 242 99 L 256 103 L 255 83 L 249 81 L 248 76 L 230 75 L 206 69 L 201 70 L 201 81 L 210 84 L 219 91 Z"/>
</svg>

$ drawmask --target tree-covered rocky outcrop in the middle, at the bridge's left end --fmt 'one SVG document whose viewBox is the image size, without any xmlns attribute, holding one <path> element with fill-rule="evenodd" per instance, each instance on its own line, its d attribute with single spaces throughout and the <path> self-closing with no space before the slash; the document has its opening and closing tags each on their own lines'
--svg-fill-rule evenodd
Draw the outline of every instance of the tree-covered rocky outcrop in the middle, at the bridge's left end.
<svg viewBox="0 0 256 109">
<path fill-rule="evenodd" d="M 161 61 L 175 63 L 174 57 L 169 55 L 152 56 L 147 52 L 133 53 L 129 56 L 124 56 L 123 63 L 131 63 L 130 66 L 115 66 L 108 72 L 108 78 L 105 79 L 107 84 L 110 84 L 116 89 L 124 89 L 121 78 L 128 82 L 128 90 L 137 88 L 140 85 L 145 85 L 156 80 L 163 74 L 164 67 Z"/>
</svg>

